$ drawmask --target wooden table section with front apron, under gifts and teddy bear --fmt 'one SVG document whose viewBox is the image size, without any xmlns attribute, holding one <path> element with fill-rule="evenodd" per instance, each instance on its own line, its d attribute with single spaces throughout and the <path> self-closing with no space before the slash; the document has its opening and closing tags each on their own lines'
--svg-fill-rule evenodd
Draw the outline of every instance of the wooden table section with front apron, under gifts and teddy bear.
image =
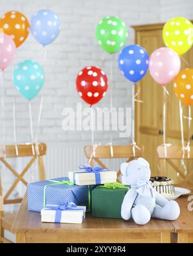
<svg viewBox="0 0 193 256">
<path fill-rule="evenodd" d="M 16 242 L 170 242 L 174 226 L 158 219 L 138 226 L 132 220 L 92 218 L 91 213 L 82 224 L 46 223 L 41 213 L 27 211 L 24 197 L 12 231 Z"/>
</svg>

